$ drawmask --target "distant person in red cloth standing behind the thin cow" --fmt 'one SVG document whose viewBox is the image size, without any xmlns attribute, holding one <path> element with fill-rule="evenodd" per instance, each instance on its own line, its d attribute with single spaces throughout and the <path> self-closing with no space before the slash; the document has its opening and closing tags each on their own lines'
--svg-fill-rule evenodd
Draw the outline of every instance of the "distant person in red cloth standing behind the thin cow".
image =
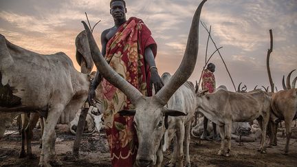
<svg viewBox="0 0 297 167">
<path fill-rule="evenodd" d="M 215 65 L 213 63 L 208 63 L 207 68 L 203 71 L 202 74 L 202 89 L 208 90 L 209 93 L 213 93 L 215 91 L 215 78 L 214 78 Z M 204 116 L 203 119 L 203 133 L 201 135 L 201 139 L 209 140 L 207 136 L 207 126 L 208 126 L 208 118 Z M 217 125 L 212 122 L 213 130 L 214 130 L 214 140 L 221 140 L 219 135 L 217 134 Z"/>
</svg>

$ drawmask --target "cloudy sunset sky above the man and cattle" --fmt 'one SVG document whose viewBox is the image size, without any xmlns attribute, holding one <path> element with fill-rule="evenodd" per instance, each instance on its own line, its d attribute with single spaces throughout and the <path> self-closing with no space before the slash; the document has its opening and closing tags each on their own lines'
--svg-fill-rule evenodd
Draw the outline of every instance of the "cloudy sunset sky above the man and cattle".
<svg viewBox="0 0 297 167">
<path fill-rule="evenodd" d="M 127 18 L 137 16 L 151 29 L 158 44 L 156 63 L 161 75 L 177 69 L 187 41 L 197 0 L 126 0 Z M 107 0 L 0 0 L 0 34 L 8 41 L 41 54 L 65 52 L 76 69 L 75 38 L 83 30 L 80 23 L 89 16 L 100 46 L 100 34 L 113 26 Z M 209 0 L 203 6 L 201 21 L 212 26 L 212 38 L 220 49 L 235 85 L 248 89 L 269 85 L 266 54 L 270 47 L 269 30 L 274 36 L 270 66 L 272 77 L 281 89 L 283 74 L 297 69 L 296 0 Z M 199 80 L 205 63 L 207 32 L 200 26 L 199 55 L 192 82 Z M 208 56 L 214 52 L 208 47 Z M 218 54 L 210 60 L 217 66 L 217 85 L 234 90 Z M 297 72 L 292 75 L 296 77 Z"/>
</svg>

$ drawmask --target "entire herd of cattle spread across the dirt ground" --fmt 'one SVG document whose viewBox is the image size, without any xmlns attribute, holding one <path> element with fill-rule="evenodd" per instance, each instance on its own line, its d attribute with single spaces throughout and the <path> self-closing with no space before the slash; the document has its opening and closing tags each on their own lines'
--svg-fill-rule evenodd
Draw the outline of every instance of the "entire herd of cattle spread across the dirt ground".
<svg viewBox="0 0 297 167">
<path fill-rule="evenodd" d="M 143 96 L 109 67 L 85 23 L 85 33 L 80 33 L 76 39 L 76 56 L 83 73 L 76 71 L 72 60 L 62 52 L 52 55 L 36 54 L 10 43 L 0 34 L 0 138 L 3 137 L 5 126 L 21 114 L 23 142 L 20 157 L 34 157 L 30 146 L 32 129 L 42 117 L 44 130 L 39 165 L 61 165 L 55 152 L 55 126 L 59 118 L 63 119 L 59 115 L 67 115 L 65 118 L 72 120 L 69 120 L 70 131 L 76 133 L 80 109 L 87 100 L 90 87 L 89 72 L 94 65 L 90 60 L 92 58 L 100 74 L 125 93 L 135 105 L 134 111 L 119 113 L 134 115 L 139 141 L 136 157 L 138 166 L 161 166 L 163 151 L 172 140 L 174 147 L 170 164 L 183 166 L 185 155 L 186 166 L 190 166 L 190 129 L 195 111 L 203 113 L 219 126 L 221 149 L 218 155 L 231 155 L 234 124 L 244 127 L 244 124 L 248 123 L 239 122 L 254 120 L 258 120 L 262 130 L 259 148 L 261 153 L 266 153 L 267 127 L 271 126 L 270 139 L 274 139 L 278 122 L 285 121 L 287 154 L 292 133 L 291 124 L 296 119 L 297 112 L 296 78 L 292 85 L 287 82 L 285 90 L 276 93 L 261 89 L 232 92 L 224 87 L 214 93 L 207 93 L 195 91 L 194 85 L 187 81 L 197 60 L 199 16 L 205 2 L 206 0 L 203 0 L 200 3 L 193 16 L 181 65 L 173 76 L 168 73 L 162 75 L 165 85 L 151 97 Z M 98 106 L 99 111 L 90 107 L 88 112 L 86 127 L 89 132 L 100 131 L 102 127 L 100 104 Z M 24 149 L 25 141 L 27 153 Z M 227 149 L 225 142 L 228 144 Z M 270 144 L 275 143 L 271 140 Z"/>
</svg>

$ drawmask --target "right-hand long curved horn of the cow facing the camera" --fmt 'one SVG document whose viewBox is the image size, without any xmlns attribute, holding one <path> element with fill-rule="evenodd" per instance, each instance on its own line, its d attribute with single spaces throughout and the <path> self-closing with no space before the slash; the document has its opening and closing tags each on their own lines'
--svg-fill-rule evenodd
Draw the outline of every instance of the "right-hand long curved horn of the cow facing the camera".
<svg viewBox="0 0 297 167">
<path fill-rule="evenodd" d="M 164 87 L 157 92 L 155 97 L 159 100 L 159 103 L 165 105 L 170 97 L 175 93 L 175 91 L 188 80 L 192 71 L 195 68 L 197 54 L 198 54 L 198 36 L 199 36 L 199 20 L 200 13 L 203 4 L 206 0 L 201 1 L 199 4 L 193 19 L 192 25 L 190 27 L 190 33 L 188 35 L 188 42 L 186 45 L 186 51 L 184 53 L 184 58 L 179 65 L 179 68 L 175 74 L 170 78 Z"/>
</svg>

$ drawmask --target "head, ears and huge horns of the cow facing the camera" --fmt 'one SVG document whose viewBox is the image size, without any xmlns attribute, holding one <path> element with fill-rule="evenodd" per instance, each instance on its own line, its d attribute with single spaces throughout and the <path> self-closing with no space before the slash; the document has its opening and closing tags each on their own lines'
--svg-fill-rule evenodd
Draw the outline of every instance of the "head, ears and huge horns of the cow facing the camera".
<svg viewBox="0 0 297 167">
<path fill-rule="evenodd" d="M 164 135 L 164 116 L 184 115 L 181 111 L 172 111 L 164 107 L 173 93 L 186 82 L 195 68 L 198 54 L 199 17 L 203 3 L 201 1 L 197 8 L 190 27 L 188 43 L 184 58 L 179 68 L 170 80 L 160 89 L 155 96 L 143 96 L 140 91 L 129 84 L 124 78 L 118 75 L 104 60 L 100 49 L 96 45 L 94 37 L 85 22 L 85 30 L 91 49 L 91 56 L 100 71 L 112 85 L 120 89 L 135 105 L 135 111 L 120 111 L 122 115 L 134 115 L 134 126 L 137 131 L 139 142 L 136 163 L 138 166 L 161 166 L 162 163 L 162 136 Z"/>
</svg>

